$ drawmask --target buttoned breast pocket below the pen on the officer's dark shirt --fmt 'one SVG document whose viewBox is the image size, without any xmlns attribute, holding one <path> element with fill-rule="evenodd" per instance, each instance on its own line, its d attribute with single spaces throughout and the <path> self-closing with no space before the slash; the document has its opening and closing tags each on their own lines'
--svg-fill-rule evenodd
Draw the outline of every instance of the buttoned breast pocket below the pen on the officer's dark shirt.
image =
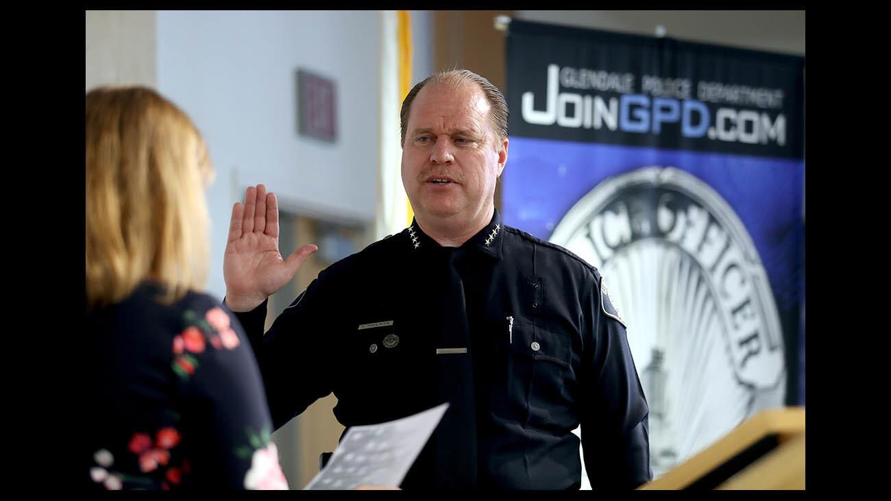
<svg viewBox="0 0 891 501">
<path fill-rule="evenodd" d="M 525 321 L 514 321 L 506 350 L 507 386 L 530 423 L 547 426 L 571 404 L 566 391 L 572 342 Z"/>
</svg>

